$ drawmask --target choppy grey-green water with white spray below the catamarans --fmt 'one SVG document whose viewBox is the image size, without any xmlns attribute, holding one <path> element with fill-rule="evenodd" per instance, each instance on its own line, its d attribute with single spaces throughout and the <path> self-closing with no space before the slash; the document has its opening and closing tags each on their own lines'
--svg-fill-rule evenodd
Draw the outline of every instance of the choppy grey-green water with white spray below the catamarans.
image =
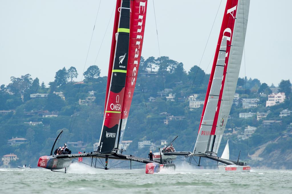
<svg viewBox="0 0 292 194">
<path fill-rule="evenodd" d="M 234 173 L 181 165 L 145 174 L 144 168 L 102 170 L 76 163 L 67 172 L 2 168 L 0 193 L 292 193 L 292 170 Z"/>
</svg>

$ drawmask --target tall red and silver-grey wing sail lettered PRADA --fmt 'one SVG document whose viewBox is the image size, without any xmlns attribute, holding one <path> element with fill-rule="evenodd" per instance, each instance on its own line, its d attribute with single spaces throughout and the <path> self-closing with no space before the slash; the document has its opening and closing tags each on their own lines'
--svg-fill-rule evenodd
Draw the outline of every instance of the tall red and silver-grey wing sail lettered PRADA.
<svg viewBox="0 0 292 194">
<path fill-rule="evenodd" d="M 194 154 L 216 156 L 232 106 L 250 0 L 227 0 Z"/>
</svg>

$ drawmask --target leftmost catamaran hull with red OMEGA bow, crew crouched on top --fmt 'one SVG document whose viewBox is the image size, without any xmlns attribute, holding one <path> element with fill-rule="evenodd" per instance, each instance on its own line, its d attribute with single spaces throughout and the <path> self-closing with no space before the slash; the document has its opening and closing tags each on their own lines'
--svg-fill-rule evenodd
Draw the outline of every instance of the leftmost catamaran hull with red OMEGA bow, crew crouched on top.
<svg viewBox="0 0 292 194">
<path fill-rule="evenodd" d="M 39 158 L 37 166 L 49 170 L 58 170 L 69 167 L 71 162 L 72 161 L 69 158 L 54 158 L 53 156 L 41 156 Z"/>
</svg>

